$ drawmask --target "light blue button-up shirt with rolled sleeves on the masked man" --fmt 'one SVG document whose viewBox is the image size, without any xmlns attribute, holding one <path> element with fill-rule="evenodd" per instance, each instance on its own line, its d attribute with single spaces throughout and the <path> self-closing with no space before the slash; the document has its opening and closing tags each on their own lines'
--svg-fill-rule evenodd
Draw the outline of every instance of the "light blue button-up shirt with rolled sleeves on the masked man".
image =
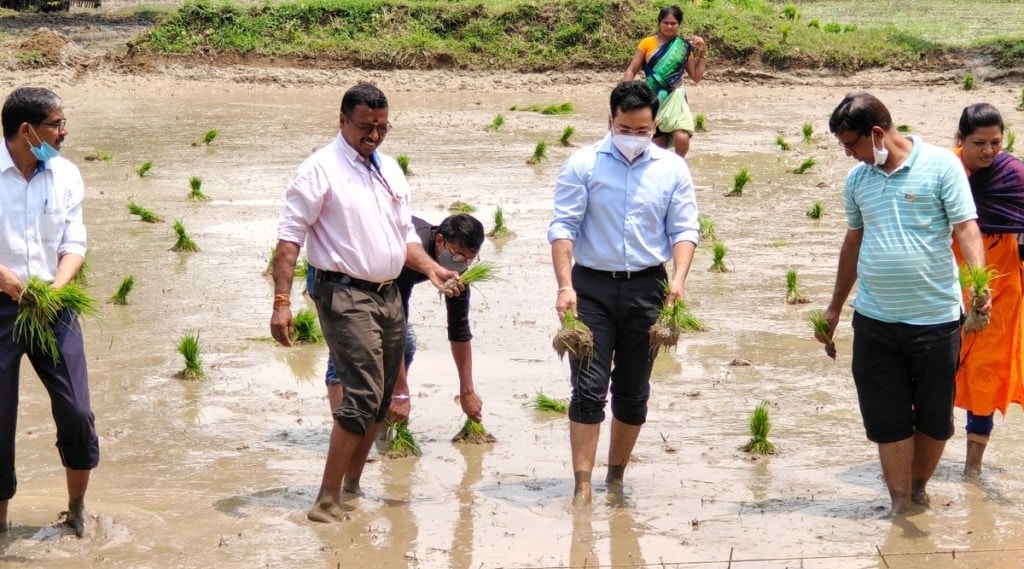
<svg viewBox="0 0 1024 569">
<path fill-rule="evenodd" d="M 554 214 L 548 242 L 573 242 L 575 262 L 592 269 L 645 269 L 671 259 L 677 243 L 699 240 L 686 162 L 652 144 L 630 164 L 610 133 L 562 165 Z"/>
</svg>

